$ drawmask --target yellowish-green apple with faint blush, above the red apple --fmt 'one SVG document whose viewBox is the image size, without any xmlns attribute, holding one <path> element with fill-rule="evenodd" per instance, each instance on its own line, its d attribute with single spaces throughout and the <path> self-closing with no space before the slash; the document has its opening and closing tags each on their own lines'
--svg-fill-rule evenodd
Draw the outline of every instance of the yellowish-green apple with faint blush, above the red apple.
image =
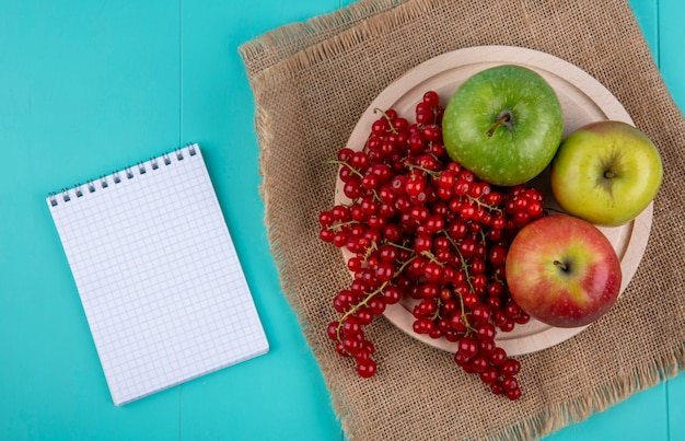
<svg viewBox="0 0 685 441">
<path fill-rule="evenodd" d="M 661 155 L 637 128 L 592 123 L 569 135 L 552 162 L 552 193 L 569 214 L 607 227 L 637 217 L 659 192 Z"/>
</svg>

